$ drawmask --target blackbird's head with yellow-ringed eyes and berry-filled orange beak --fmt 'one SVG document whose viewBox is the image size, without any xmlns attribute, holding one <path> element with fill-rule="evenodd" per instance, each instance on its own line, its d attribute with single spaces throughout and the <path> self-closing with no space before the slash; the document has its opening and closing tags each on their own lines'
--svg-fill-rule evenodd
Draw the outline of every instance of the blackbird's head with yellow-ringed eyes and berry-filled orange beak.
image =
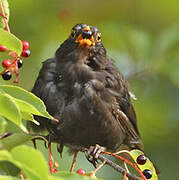
<svg viewBox="0 0 179 180">
<path fill-rule="evenodd" d="M 69 38 L 56 51 L 58 63 L 83 62 L 90 67 L 104 63 L 102 57 L 106 50 L 101 41 L 101 33 L 94 26 L 87 24 L 75 25 Z"/>
</svg>

